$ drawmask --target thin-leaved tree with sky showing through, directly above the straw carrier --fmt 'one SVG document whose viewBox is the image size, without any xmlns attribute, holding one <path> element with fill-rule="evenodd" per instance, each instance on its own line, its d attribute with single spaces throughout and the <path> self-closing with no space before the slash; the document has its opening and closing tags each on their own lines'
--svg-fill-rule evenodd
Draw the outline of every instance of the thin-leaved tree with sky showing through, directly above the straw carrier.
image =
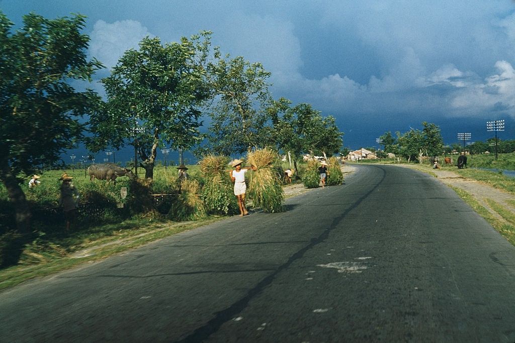
<svg viewBox="0 0 515 343">
<path fill-rule="evenodd" d="M 243 57 L 220 58 L 209 64 L 209 77 L 215 101 L 210 111 L 209 148 L 217 153 L 243 153 L 266 146 L 266 108 L 271 98 L 267 79 L 270 73 L 261 63 Z"/>
</svg>

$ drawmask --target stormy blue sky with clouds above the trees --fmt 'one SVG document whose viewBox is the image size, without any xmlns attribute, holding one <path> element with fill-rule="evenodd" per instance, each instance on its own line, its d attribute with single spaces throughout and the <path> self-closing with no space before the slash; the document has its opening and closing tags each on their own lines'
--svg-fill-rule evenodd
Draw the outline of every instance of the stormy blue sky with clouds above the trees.
<svg viewBox="0 0 515 343">
<path fill-rule="evenodd" d="M 344 145 L 437 124 L 445 143 L 515 139 L 515 2 L 0 0 L 16 24 L 35 11 L 81 13 L 91 56 L 112 67 L 146 35 L 177 41 L 213 31 L 222 52 L 262 62 L 274 98 L 336 118 Z"/>
</svg>

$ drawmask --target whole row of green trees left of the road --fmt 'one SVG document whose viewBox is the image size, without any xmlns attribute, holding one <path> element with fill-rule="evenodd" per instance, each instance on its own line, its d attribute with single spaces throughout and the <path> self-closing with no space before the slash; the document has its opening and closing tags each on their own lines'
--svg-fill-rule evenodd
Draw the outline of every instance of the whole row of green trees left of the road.
<svg viewBox="0 0 515 343">
<path fill-rule="evenodd" d="M 70 85 L 91 82 L 103 67 L 87 59 L 89 37 L 80 33 L 85 17 L 48 20 L 30 13 L 23 22 L 11 32 L 0 12 L 0 180 L 22 233 L 29 231 L 30 209 L 20 175 L 57 163 L 82 141 L 92 152 L 132 145 L 150 178 L 164 145 L 225 155 L 265 146 L 330 155 L 341 147 L 333 117 L 308 104 L 274 101 L 270 73 L 260 63 L 222 57 L 210 32 L 166 44 L 143 39 L 101 80 L 104 101 Z M 205 114 L 209 131 L 201 133 Z"/>
</svg>

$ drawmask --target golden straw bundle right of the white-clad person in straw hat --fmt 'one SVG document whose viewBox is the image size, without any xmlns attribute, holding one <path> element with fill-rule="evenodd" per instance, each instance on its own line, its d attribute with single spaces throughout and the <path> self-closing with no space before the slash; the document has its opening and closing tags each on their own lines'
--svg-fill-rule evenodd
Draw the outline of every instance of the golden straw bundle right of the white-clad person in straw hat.
<svg viewBox="0 0 515 343">
<path fill-rule="evenodd" d="M 248 155 L 249 163 L 258 170 L 250 173 L 247 194 L 252 199 L 254 207 L 260 207 L 270 213 L 284 211 L 281 179 L 272 166 L 278 157 L 277 153 L 270 149 L 256 150 Z"/>
</svg>

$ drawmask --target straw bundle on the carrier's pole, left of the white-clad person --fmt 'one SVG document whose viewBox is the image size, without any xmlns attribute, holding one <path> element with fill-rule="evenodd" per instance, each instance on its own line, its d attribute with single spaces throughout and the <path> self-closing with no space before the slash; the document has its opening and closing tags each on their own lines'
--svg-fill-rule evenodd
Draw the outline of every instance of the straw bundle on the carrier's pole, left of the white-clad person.
<svg viewBox="0 0 515 343">
<path fill-rule="evenodd" d="M 233 192 L 233 184 L 226 171 L 229 157 L 209 155 L 200 161 L 200 171 L 204 178 L 202 199 L 210 214 L 232 215 L 238 210 Z"/>
</svg>

